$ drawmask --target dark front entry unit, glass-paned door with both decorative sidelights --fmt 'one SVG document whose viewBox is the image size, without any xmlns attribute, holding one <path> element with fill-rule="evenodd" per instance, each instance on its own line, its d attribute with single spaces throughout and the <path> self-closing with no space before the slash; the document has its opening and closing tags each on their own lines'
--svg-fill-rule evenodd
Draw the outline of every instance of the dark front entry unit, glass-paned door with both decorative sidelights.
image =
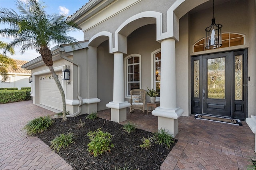
<svg viewBox="0 0 256 170">
<path fill-rule="evenodd" d="M 192 113 L 246 119 L 246 50 L 192 57 Z"/>
</svg>

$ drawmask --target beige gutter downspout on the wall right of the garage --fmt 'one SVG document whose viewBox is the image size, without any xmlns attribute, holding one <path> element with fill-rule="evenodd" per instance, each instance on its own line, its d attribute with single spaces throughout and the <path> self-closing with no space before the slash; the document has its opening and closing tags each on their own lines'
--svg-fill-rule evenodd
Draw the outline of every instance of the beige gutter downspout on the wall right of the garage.
<svg viewBox="0 0 256 170">
<path fill-rule="evenodd" d="M 75 63 L 72 59 L 69 59 L 68 57 L 64 56 L 61 51 L 59 51 L 59 55 L 63 59 L 69 61 L 70 63 L 73 63 L 74 65 L 76 65 L 78 67 L 78 79 L 77 79 L 77 98 L 79 99 L 78 111 L 76 113 L 72 114 L 72 115 L 66 115 L 67 117 L 76 117 L 81 113 L 81 106 L 83 104 L 83 99 L 80 96 L 81 69 L 80 69 L 80 66 L 77 63 Z"/>
</svg>

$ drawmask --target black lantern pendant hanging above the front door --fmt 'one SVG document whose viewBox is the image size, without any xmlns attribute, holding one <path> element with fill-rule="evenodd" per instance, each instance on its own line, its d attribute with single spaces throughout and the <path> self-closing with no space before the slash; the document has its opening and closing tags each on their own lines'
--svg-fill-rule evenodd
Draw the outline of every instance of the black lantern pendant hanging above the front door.
<svg viewBox="0 0 256 170">
<path fill-rule="evenodd" d="M 214 0 L 213 0 L 213 17 L 211 26 L 205 29 L 205 48 L 206 49 L 215 49 L 222 46 L 222 25 L 215 24 L 214 18 Z"/>
</svg>

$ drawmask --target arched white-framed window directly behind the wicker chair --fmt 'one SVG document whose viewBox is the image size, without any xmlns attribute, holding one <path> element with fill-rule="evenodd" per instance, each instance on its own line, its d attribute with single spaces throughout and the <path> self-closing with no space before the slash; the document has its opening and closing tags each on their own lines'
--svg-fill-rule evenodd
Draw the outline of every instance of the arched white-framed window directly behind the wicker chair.
<svg viewBox="0 0 256 170">
<path fill-rule="evenodd" d="M 126 96 L 130 96 L 132 89 L 141 88 L 141 55 L 132 54 L 125 58 L 126 63 Z"/>
</svg>

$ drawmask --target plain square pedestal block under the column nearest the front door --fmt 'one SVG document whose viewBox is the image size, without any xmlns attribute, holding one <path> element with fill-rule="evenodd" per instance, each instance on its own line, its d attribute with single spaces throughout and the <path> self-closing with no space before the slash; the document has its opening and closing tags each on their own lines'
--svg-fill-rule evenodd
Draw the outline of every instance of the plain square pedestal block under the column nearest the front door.
<svg viewBox="0 0 256 170">
<path fill-rule="evenodd" d="M 171 119 L 166 117 L 158 116 L 158 130 L 165 129 L 172 134 L 173 137 L 179 132 L 179 121 L 178 119 Z"/>
</svg>

